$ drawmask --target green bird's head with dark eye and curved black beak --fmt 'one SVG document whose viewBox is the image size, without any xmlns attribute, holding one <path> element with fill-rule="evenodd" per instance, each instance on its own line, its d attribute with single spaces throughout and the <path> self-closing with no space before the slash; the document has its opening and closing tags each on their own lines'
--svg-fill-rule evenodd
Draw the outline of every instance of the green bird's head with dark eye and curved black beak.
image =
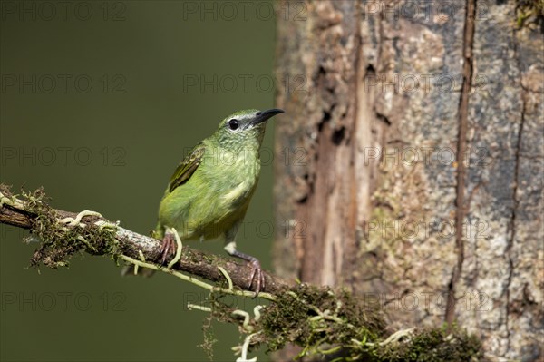
<svg viewBox="0 0 544 362">
<path fill-rule="evenodd" d="M 237 149 L 239 147 L 260 147 L 263 142 L 267 121 L 283 110 L 274 108 L 267 111 L 243 110 L 228 115 L 219 122 L 215 133 L 221 147 Z"/>
</svg>

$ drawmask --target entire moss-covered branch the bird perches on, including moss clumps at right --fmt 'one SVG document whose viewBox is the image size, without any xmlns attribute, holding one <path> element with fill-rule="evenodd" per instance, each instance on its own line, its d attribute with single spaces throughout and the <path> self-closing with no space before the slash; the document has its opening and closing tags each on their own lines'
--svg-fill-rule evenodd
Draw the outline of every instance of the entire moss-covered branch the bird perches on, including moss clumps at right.
<svg viewBox="0 0 544 362">
<path fill-rule="evenodd" d="M 73 254 L 86 252 L 167 272 L 208 289 L 209 307 L 190 307 L 238 325 L 244 337 L 243 344 L 235 348 L 241 354 L 239 361 L 254 360 L 247 357 L 253 347 L 277 350 L 288 343 L 302 348 L 299 357 L 325 360 L 482 360 L 480 341 L 460 328 L 408 328 L 393 333 L 381 310 L 365 305 L 346 290 L 289 283 L 270 273 L 265 273 L 266 289 L 259 296 L 271 303 L 257 306 L 251 319 L 248 312 L 220 301 L 224 294 L 253 297 L 244 290 L 250 282 L 248 266 L 187 246 L 182 246 L 168 267 L 161 266 L 160 240 L 123 229 L 94 211 L 76 214 L 52 209 L 43 190 L 16 197 L 0 184 L 0 223 L 30 230 L 28 239 L 40 240 L 32 265 L 58 268 L 66 266 Z"/>
</svg>

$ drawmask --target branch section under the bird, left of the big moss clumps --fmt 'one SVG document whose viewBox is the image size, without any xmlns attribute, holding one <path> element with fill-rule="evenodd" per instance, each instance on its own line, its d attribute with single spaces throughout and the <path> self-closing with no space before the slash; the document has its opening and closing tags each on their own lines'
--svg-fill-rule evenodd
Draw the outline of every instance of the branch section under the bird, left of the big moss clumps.
<svg viewBox="0 0 544 362">
<path fill-rule="evenodd" d="M 80 213 L 81 220 L 70 223 L 70 220 L 76 220 L 78 214 L 52 209 L 42 190 L 16 198 L 7 186 L 0 184 L 0 205 L 1 223 L 28 229 L 31 235 L 42 240 L 40 248 L 31 259 L 32 265 L 43 263 L 47 267 L 62 267 L 68 264 L 68 259 L 74 253 L 80 251 L 92 255 L 109 255 L 114 259 L 124 255 L 141 260 L 143 255 L 145 262 L 160 265 L 160 240 L 124 229 L 98 213 Z M 218 267 L 227 271 L 235 287 L 248 288 L 250 267 L 187 246 L 183 246 L 180 261 L 172 265 L 171 269 L 213 282 L 226 281 Z M 286 289 L 289 284 L 267 272 L 265 278 L 264 291 L 269 293 Z"/>
</svg>

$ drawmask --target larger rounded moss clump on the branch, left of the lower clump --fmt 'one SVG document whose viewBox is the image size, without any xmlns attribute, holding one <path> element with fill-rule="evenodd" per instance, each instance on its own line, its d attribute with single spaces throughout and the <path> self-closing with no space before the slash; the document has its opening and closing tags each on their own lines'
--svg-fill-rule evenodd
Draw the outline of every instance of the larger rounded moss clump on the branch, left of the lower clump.
<svg viewBox="0 0 544 362">
<path fill-rule="evenodd" d="M 384 336 L 384 318 L 375 309 L 365 308 L 348 291 L 301 284 L 282 293 L 264 310 L 260 321 L 269 350 L 287 343 L 303 347 L 302 355 L 318 354 L 324 346 L 355 346 L 352 357 L 363 345 Z M 349 353 L 348 353 L 349 355 Z"/>
</svg>

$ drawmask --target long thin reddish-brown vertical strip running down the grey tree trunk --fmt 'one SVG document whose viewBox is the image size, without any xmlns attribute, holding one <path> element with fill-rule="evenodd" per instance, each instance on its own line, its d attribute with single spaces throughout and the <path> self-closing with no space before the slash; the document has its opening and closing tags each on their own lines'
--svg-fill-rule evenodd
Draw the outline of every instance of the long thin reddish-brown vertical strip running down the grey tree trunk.
<svg viewBox="0 0 544 362">
<path fill-rule="evenodd" d="M 474 43 L 476 0 L 466 0 L 465 7 L 465 27 L 462 42 L 464 59 L 462 68 L 461 99 L 459 102 L 459 135 L 457 139 L 457 198 L 455 200 L 455 205 L 457 206 L 457 210 L 455 210 L 455 248 L 457 251 L 457 265 L 455 266 L 455 269 L 453 269 L 445 313 L 446 322 L 450 324 L 455 318 L 455 287 L 461 278 L 462 263 L 464 260 L 463 225 L 465 225 L 466 220 L 465 180 L 467 177 L 464 157 L 467 154 L 467 130 L 469 122 L 469 98 L 471 94 L 473 75 L 472 46 Z"/>
</svg>

